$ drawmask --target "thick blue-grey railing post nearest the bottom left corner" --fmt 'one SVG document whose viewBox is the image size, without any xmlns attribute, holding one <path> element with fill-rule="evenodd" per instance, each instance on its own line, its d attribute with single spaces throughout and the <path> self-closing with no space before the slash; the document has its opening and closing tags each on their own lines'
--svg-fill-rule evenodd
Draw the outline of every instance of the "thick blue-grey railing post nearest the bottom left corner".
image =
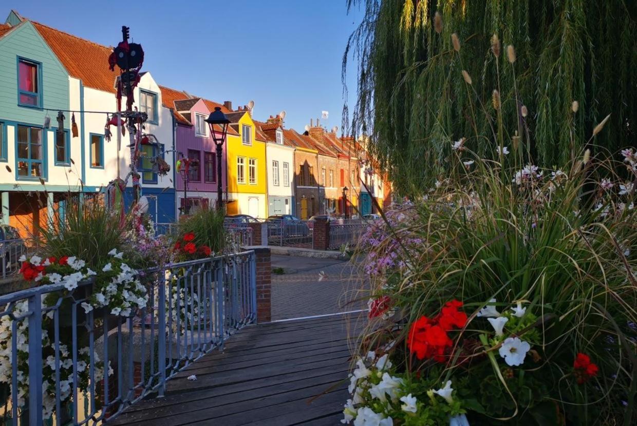
<svg viewBox="0 0 637 426">
<path fill-rule="evenodd" d="M 29 296 L 29 313 L 29 425 L 36 426 L 42 424 L 41 295 Z"/>
</svg>

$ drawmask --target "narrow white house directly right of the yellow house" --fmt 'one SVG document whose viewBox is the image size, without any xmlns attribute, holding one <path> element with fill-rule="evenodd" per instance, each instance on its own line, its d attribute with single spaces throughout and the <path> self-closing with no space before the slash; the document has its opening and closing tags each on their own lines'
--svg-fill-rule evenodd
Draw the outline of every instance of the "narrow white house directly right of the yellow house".
<svg viewBox="0 0 637 426">
<path fill-rule="evenodd" d="M 295 215 L 294 145 L 283 134 L 283 118 L 270 116 L 255 124 L 266 138 L 268 161 L 268 215 Z"/>
</svg>

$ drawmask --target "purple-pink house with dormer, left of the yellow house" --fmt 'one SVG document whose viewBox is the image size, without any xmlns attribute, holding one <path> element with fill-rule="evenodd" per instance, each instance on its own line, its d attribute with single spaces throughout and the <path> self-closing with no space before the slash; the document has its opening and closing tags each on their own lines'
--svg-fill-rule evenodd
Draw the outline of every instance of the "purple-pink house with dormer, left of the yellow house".
<svg viewBox="0 0 637 426">
<path fill-rule="evenodd" d="M 206 204 L 214 206 L 217 202 L 217 147 L 205 120 L 215 107 L 220 107 L 224 113 L 229 112 L 231 107 L 229 103 L 217 104 L 168 87 L 161 87 L 161 90 L 164 106 L 172 108 L 175 115 L 175 158 L 188 157 L 199 160 L 198 167 L 191 166 L 189 169 L 187 188 L 184 185 L 183 173 L 175 172 L 176 207 L 181 208 L 186 203 L 190 206 Z M 228 132 L 234 131 L 228 128 Z M 221 185 L 225 197 L 227 190 L 225 142 L 223 148 Z"/>
</svg>

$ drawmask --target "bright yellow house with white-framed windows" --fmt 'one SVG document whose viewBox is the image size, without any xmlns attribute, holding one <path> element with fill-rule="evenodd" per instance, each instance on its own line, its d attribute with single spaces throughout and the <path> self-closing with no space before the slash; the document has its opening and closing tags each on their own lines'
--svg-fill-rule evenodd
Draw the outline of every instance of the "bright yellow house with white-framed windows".
<svg viewBox="0 0 637 426">
<path fill-rule="evenodd" d="M 225 117 L 238 133 L 227 135 L 227 213 L 267 217 L 266 142 L 257 137 L 257 126 L 248 110 L 226 113 Z"/>
</svg>

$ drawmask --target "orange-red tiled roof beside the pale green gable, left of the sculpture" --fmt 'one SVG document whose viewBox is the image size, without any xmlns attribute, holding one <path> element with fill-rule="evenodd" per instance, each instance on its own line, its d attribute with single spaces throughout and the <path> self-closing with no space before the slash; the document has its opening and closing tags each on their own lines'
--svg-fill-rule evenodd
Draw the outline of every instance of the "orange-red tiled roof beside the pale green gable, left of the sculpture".
<svg viewBox="0 0 637 426">
<path fill-rule="evenodd" d="M 115 92 L 113 85 L 118 74 L 108 69 L 113 48 L 31 22 L 71 76 L 82 80 L 86 87 Z"/>
</svg>

